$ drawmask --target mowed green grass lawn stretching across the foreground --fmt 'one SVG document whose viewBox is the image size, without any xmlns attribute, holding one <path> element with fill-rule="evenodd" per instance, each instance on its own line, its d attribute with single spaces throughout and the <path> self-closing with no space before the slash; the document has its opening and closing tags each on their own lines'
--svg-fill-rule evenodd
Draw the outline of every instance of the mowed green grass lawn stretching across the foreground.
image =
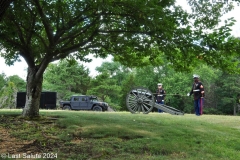
<svg viewBox="0 0 240 160">
<path fill-rule="evenodd" d="M 20 114 L 0 110 L 0 117 Z M 58 110 L 40 114 L 39 120 L 24 119 L 8 127 L 15 137 L 50 145 L 58 159 L 240 159 L 239 116 Z M 47 123 L 49 117 L 55 117 L 54 123 Z M 29 122 L 37 127 L 29 127 Z"/>
</svg>

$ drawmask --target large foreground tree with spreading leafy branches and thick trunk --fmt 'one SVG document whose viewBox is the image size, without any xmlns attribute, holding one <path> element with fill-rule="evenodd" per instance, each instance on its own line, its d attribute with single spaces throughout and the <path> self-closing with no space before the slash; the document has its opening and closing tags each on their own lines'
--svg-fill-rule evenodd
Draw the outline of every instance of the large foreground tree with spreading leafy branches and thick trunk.
<svg viewBox="0 0 240 160">
<path fill-rule="evenodd" d="M 123 64 L 141 66 L 159 64 L 165 54 L 182 70 L 194 64 L 199 55 L 216 66 L 235 64 L 228 58 L 235 48 L 229 54 L 217 52 L 217 47 L 207 48 L 218 37 L 221 39 L 214 45 L 224 50 L 229 50 L 229 40 L 236 43 L 228 38 L 231 21 L 207 34 L 195 32 L 190 18 L 175 0 L 14 1 L 0 23 L 0 49 L 5 49 L 1 56 L 7 64 L 23 57 L 28 65 L 23 116 L 39 116 L 43 73 L 49 63 L 66 57 L 89 61 L 85 56 L 90 53 L 100 57 L 112 54 Z M 206 28 L 216 25 L 211 21 Z M 227 65 L 228 70 L 232 68 Z"/>
</svg>

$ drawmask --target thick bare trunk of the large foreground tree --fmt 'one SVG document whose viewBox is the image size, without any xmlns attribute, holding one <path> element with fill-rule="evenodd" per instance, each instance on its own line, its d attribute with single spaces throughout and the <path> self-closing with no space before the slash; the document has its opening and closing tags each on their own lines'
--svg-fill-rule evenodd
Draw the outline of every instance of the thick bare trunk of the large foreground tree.
<svg viewBox="0 0 240 160">
<path fill-rule="evenodd" d="M 22 112 L 24 117 L 38 117 L 42 92 L 43 75 L 36 76 L 38 67 L 28 68 L 26 103 Z"/>
</svg>

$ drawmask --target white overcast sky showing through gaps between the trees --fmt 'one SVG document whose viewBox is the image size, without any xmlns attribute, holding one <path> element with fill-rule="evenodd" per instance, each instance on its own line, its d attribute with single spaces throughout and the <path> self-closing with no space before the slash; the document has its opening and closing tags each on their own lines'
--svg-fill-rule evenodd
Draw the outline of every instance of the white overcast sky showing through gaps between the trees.
<svg viewBox="0 0 240 160">
<path fill-rule="evenodd" d="M 190 10 L 189 6 L 187 5 L 186 0 L 177 0 L 178 4 L 183 6 L 186 10 Z M 240 37 L 240 7 L 237 6 L 233 11 L 230 13 L 224 15 L 223 21 L 226 18 L 234 17 L 236 20 L 235 25 L 232 27 L 232 34 L 234 36 Z M 91 56 L 90 56 L 91 57 Z M 111 61 L 111 57 L 108 57 L 107 59 L 101 59 L 101 58 L 93 58 L 92 62 L 90 63 L 83 63 L 84 66 L 89 68 L 90 70 L 90 75 L 95 76 L 97 73 L 95 71 L 95 68 L 98 66 L 101 66 L 102 62 L 105 61 Z M 24 80 L 26 79 L 27 75 L 27 64 L 24 60 L 22 62 L 15 62 L 13 66 L 7 66 L 5 64 L 5 60 L 0 57 L 0 74 L 5 73 L 6 76 L 11 76 L 11 75 L 18 75 L 19 77 L 23 78 Z"/>
</svg>

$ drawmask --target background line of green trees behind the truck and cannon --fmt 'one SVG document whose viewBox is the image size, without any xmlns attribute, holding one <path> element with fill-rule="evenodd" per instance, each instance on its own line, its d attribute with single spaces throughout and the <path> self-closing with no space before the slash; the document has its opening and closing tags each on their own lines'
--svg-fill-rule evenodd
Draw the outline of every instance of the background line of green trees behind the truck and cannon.
<svg viewBox="0 0 240 160">
<path fill-rule="evenodd" d="M 193 98 L 188 97 L 193 74 L 200 75 L 205 87 L 205 114 L 238 114 L 240 76 L 228 74 L 206 65 L 198 65 L 190 73 L 176 72 L 171 64 L 128 68 L 118 62 L 103 62 L 96 68 L 98 75 L 90 76 L 88 68 L 64 60 L 50 64 L 44 73 L 43 91 L 58 93 L 58 101 L 71 95 L 96 95 L 118 111 L 127 110 L 125 99 L 134 87 L 145 87 L 153 93 L 157 83 L 167 92 L 165 102 L 185 113 L 193 113 Z M 0 108 L 14 108 L 18 91 L 25 91 L 26 82 L 18 76 L 0 75 Z"/>
</svg>

